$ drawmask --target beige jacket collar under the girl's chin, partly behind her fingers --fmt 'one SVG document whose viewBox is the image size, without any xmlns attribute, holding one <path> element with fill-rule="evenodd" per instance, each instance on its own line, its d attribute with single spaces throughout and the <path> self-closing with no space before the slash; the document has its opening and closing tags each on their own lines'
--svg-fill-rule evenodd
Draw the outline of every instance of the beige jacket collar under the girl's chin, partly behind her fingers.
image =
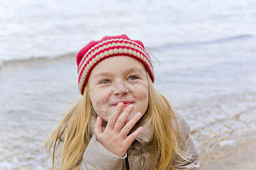
<svg viewBox="0 0 256 170">
<path fill-rule="evenodd" d="M 90 121 L 90 126 L 92 128 L 92 134 L 95 133 L 94 131 L 94 125 L 96 124 L 96 117 L 92 117 L 92 120 Z M 107 122 L 102 121 L 102 131 L 105 130 L 107 125 Z M 137 128 L 139 127 L 143 127 L 143 131 L 141 134 L 138 135 L 137 138 L 135 138 L 135 140 L 141 142 L 141 143 L 150 143 L 152 141 L 153 138 L 153 128 L 152 128 L 152 124 L 150 122 L 150 117 L 144 117 L 141 121 L 138 122 L 138 124 L 135 124 L 133 129 L 131 129 L 131 133 L 133 133 Z"/>
</svg>

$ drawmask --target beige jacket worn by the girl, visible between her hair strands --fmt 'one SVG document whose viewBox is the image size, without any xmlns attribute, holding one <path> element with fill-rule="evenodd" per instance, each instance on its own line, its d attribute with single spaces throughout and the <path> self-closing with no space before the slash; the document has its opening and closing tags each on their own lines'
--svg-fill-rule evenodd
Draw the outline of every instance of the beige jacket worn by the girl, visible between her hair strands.
<svg viewBox="0 0 256 170">
<path fill-rule="evenodd" d="M 197 155 L 195 145 L 191 136 L 189 135 L 189 125 L 179 113 L 176 113 L 177 122 L 180 127 L 180 133 L 183 133 L 186 143 L 184 146 L 181 146 L 181 149 L 188 154 L 190 158 L 189 161 L 184 160 L 182 158 L 176 158 L 179 160 L 179 163 L 174 164 L 176 169 L 200 169 L 200 165 L 198 162 L 199 156 Z M 92 121 L 92 126 L 94 127 L 95 120 Z M 152 141 L 152 127 L 151 124 L 147 124 L 147 119 L 143 120 L 141 124 L 135 126 L 142 126 L 142 133 L 134 140 L 134 142 L 130 145 L 127 150 L 127 153 L 120 158 L 119 156 L 113 154 L 108 151 L 104 146 L 101 145 L 100 142 L 97 141 L 96 135 L 90 139 L 89 145 L 86 148 L 82 165 L 80 169 L 83 170 L 93 170 L 93 169 L 105 169 L 105 170 L 124 170 L 126 169 L 125 159 L 128 156 L 129 167 L 131 170 L 135 169 L 150 169 L 150 142 Z M 102 125 L 102 127 L 105 125 Z M 133 129 L 137 129 L 135 127 Z M 103 130 L 105 128 L 103 127 Z M 93 131 L 94 133 L 94 131 Z M 60 156 L 64 135 L 61 137 L 60 141 L 58 141 L 56 154 L 57 157 Z M 57 160 L 58 158 L 56 158 Z M 58 164 L 58 161 L 56 162 Z"/>
</svg>

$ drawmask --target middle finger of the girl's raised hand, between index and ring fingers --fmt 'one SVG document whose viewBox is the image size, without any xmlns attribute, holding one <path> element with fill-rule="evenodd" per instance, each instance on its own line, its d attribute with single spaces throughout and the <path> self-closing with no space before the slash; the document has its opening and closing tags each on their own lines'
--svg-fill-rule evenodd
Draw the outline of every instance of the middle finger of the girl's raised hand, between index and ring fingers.
<svg viewBox="0 0 256 170">
<path fill-rule="evenodd" d="M 125 111 L 118 117 L 117 122 L 115 123 L 114 130 L 118 133 L 123 128 L 123 125 L 125 124 L 126 118 L 129 116 L 129 114 L 133 111 L 134 105 L 130 104 Z M 133 127 L 131 127 L 133 128 Z"/>
</svg>

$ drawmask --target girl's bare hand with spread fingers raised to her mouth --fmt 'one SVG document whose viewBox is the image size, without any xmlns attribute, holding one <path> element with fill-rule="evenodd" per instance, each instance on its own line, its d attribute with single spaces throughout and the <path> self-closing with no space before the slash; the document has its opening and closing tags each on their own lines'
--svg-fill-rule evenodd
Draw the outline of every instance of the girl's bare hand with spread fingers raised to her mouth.
<svg viewBox="0 0 256 170">
<path fill-rule="evenodd" d="M 129 148 L 131 143 L 134 141 L 135 138 L 138 137 L 139 134 L 142 133 L 143 130 L 142 127 L 139 127 L 133 133 L 127 136 L 129 131 L 136 124 L 136 122 L 138 122 L 138 120 L 142 117 L 142 114 L 138 112 L 133 118 L 131 118 L 129 122 L 127 122 L 125 126 L 123 126 L 125 124 L 126 118 L 133 111 L 134 106 L 130 104 L 121 114 L 122 108 L 123 103 L 118 103 L 113 114 L 110 116 L 108 124 L 106 125 L 106 129 L 103 133 L 101 129 L 101 117 L 97 117 L 94 128 L 96 138 L 99 142 L 101 142 L 101 145 L 103 145 L 110 152 L 119 157 L 125 155 L 125 152 Z"/>
</svg>

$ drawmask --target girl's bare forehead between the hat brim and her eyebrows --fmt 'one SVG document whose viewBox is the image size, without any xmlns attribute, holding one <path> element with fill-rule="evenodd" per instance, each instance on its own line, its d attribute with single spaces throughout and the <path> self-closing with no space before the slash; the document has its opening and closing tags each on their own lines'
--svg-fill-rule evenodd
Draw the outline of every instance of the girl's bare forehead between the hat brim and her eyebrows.
<svg viewBox="0 0 256 170">
<path fill-rule="evenodd" d="M 90 76 L 95 76 L 99 73 L 122 73 L 129 71 L 141 71 L 146 73 L 146 69 L 137 59 L 129 56 L 114 56 L 109 57 L 98 63 L 92 70 Z"/>
</svg>

